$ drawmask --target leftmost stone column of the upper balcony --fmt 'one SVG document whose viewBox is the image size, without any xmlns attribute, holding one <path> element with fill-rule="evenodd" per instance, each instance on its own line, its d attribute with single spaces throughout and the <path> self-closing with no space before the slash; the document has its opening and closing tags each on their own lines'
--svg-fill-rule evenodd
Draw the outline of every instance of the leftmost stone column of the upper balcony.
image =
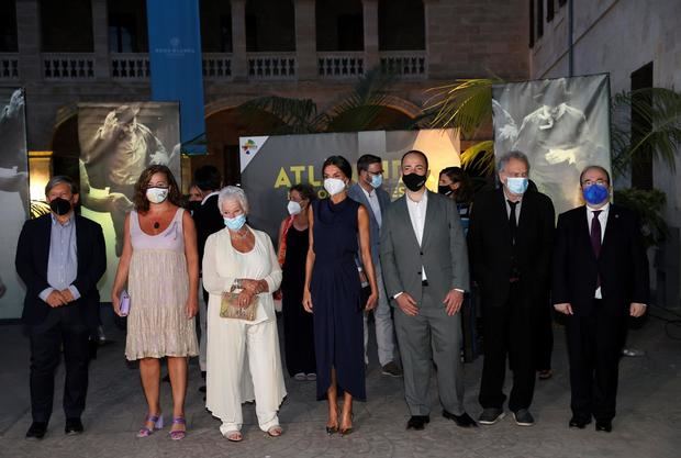
<svg viewBox="0 0 681 458">
<path fill-rule="evenodd" d="M 16 40 L 19 47 L 19 78 L 26 82 L 42 79 L 41 11 L 38 0 L 16 2 Z"/>
</svg>

